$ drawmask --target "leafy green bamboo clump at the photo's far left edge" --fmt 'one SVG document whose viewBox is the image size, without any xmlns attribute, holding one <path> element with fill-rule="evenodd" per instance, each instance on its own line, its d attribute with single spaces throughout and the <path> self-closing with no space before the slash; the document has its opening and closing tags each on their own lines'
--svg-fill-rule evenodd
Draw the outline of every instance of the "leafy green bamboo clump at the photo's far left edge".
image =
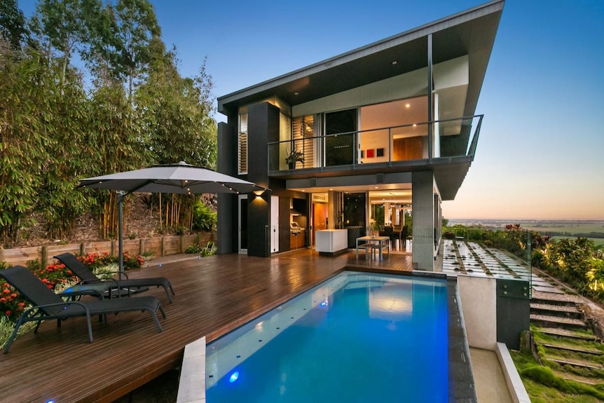
<svg viewBox="0 0 604 403">
<path fill-rule="evenodd" d="M 43 57 L 0 60 L 0 235 L 11 247 L 36 206 L 39 161 L 49 158 L 44 117 L 53 75 Z"/>
</svg>

